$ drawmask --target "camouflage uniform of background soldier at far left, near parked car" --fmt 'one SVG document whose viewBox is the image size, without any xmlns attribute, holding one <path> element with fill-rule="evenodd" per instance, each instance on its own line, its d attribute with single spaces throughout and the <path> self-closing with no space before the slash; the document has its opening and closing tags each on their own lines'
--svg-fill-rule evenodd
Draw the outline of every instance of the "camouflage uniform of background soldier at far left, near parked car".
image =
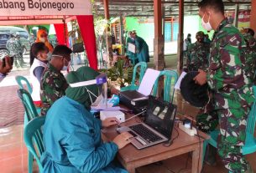
<svg viewBox="0 0 256 173">
<path fill-rule="evenodd" d="M 15 40 L 15 38 L 10 38 L 7 43 L 6 43 L 6 48 L 8 48 L 9 51 L 9 55 L 11 57 L 13 57 L 14 60 L 14 66 L 16 68 L 22 67 L 23 64 L 20 61 L 21 57 L 20 57 L 20 48 L 19 48 L 19 44 L 17 42 L 17 40 Z"/>
</svg>

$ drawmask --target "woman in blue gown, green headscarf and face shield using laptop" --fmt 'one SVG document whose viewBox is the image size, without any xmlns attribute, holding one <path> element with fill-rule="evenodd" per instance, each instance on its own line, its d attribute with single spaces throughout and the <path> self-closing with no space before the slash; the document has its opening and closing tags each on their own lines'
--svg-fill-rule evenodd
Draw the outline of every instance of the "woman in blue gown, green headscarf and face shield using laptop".
<svg viewBox="0 0 256 173">
<path fill-rule="evenodd" d="M 67 75 L 69 84 L 95 79 L 96 71 L 81 67 Z M 122 133 L 112 142 L 103 143 L 101 129 L 118 120 L 101 121 L 88 111 L 91 99 L 87 89 L 97 94 L 97 85 L 71 88 L 55 101 L 44 124 L 45 151 L 41 162 L 45 173 L 127 173 L 114 163 L 115 155 L 130 142 L 132 135 Z M 93 99 L 92 101 L 94 101 Z"/>
</svg>

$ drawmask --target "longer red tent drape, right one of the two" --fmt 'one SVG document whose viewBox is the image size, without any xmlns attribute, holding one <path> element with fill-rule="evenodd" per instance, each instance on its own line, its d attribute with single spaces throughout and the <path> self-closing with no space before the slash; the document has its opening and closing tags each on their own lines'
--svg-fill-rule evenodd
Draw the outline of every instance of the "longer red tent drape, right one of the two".
<svg viewBox="0 0 256 173">
<path fill-rule="evenodd" d="M 85 43 L 86 53 L 89 60 L 90 67 L 97 69 L 97 48 L 96 38 L 94 33 L 93 16 L 76 16 L 77 23 L 81 30 L 81 36 Z"/>
</svg>

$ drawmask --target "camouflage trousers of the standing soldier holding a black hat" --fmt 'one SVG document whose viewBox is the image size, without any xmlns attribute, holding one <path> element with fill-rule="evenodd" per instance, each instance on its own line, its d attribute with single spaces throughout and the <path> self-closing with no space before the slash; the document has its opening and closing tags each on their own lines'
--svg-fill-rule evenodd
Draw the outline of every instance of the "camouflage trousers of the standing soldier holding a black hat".
<svg viewBox="0 0 256 173">
<path fill-rule="evenodd" d="M 248 169 L 248 161 L 242 154 L 246 137 L 247 115 L 249 108 L 219 109 L 220 135 L 217 150 L 225 167 L 233 173 L 242 173 Z"/>
</svg>

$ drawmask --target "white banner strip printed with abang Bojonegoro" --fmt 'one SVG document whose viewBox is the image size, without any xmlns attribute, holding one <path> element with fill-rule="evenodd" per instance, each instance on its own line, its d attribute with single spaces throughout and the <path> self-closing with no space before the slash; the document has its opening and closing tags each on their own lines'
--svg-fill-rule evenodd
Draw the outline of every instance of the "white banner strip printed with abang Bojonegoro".
<svg viewBox="0 0 256 173">
<path fill-rule="evenodd" d="M 90 0 L 0 0 L 0 16 L 91 15 Z"/>
</svg>

